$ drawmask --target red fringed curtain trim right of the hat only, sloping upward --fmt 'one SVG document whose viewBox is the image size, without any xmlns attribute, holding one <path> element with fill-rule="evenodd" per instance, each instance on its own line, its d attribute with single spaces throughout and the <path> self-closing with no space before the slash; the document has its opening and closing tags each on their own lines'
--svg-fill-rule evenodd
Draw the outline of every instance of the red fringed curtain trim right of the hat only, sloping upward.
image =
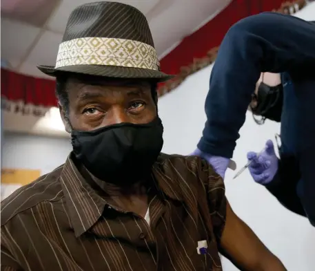
<svg viewBox="0 0 315 271">
<path fill-rule="evenodd" d="M 181 84 L 187 75 L 198 71 L 199 68 L 196 66 L 200 65 L 203 68 L 204 62 L 211 64 L 215 59 L 216 51 L 211 53 L 210 50 L 219 47 L 225 33 L 236 21 L 266 11 L 295 12 L 296 3 L 298 8 L 303 8 L 305 2 L 305 0 L 233 0 L 219 15 L 192 35 L 185 37 L 179 46 L 161 59 L 161 68 L 164 73 L 178 75 L 172 80 L 173 82 L 165 83 L 167 89 L 163 90 L 163 93 L 171 91 L 172 88 Z M 208 59 L 203 60 L 207 55 Z M 198 61 L 199 64 L 196 63 Z M 179 74 L 181 71 L 183 75 Z M 162 86 L 163 84 L 160 84 L 160 87 Z"/>
</svg>

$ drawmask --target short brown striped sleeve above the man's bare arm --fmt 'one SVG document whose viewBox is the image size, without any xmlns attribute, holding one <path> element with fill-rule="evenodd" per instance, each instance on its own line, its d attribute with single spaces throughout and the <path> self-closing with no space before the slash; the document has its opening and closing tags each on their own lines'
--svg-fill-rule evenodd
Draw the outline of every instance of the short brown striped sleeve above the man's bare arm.
<svg viewBox="0 0 315 271">
<path fill-rule="evenodd" d="M 212 221 L 214 235 L 217 243 L 220 243 L 221 235 L 225 227 L 226 205 L 225 185 L 219 174 L 216 174 L 211 165 L 201 160 L 201 180 L 205 180 L 208 207 Z"/>
</svg>

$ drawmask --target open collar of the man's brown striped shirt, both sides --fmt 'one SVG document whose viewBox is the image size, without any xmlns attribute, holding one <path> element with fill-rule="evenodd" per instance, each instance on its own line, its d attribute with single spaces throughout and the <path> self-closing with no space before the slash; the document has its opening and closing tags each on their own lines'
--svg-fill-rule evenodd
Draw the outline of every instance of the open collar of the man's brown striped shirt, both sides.
<svg viewBox="0 0 315 271">
<path fill-rule="evenodd" d="M 156 189 L 163 196 L 181 201 L 183 200 L 181 185 L 178 184 L 185 185 L 185 180 L 175 167 L 177 165 L 174 165 L 170 159 L 167 159 L 167 156 L 161 153 L 152 167 L 152 174 Z M 81 175 L 74 165 L 72 153 L 63 166 L 60 180 L 74 234 L 79 237 L 99 220 L 103 215 L 104 208 L 108 206 L 108 202 L 101 198 Z"/>
</svg>

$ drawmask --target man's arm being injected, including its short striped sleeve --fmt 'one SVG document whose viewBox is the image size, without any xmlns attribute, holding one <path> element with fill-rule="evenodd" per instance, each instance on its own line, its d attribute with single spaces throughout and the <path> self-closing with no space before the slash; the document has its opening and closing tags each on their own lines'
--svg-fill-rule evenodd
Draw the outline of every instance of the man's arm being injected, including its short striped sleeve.
<svg viewBox="0 0 315 271">
<path fill-rule="evenodd" d="M 205 160 L 200 162 L 199 177 L 205 183 L 213 232 L 220 252 L 240 270 L 285 271 L 281 261 L 234 214 L 225 197 L 223 179 Z"/>
</svg>

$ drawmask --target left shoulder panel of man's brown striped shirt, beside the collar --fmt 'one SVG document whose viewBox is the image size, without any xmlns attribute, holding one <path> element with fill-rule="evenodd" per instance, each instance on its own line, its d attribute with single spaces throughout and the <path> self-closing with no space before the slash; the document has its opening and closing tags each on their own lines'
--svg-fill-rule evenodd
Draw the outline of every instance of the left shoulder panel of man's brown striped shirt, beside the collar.
<svg viewBox="0 0 315 271">
<path fill-rule="evenodd" d="M 5 225 L 17 214 L 43 202 L 54 202 L 63 197 L 59 178 L 63 165 L 49 174 L 45 174 L 28 185 L 14 191 L 1 201 L 1 226 Z"/>
</svg>

